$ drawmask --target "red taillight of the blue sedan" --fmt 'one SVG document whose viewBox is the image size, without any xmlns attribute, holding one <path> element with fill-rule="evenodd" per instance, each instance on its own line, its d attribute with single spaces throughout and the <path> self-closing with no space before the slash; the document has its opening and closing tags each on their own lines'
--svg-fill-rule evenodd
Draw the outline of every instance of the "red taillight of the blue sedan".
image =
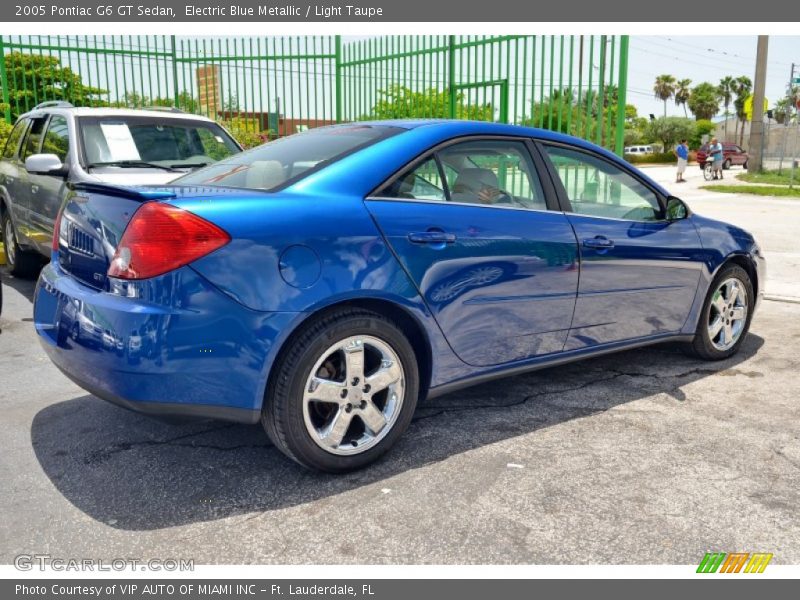
<svg viewBox="0 0 800 600">
<path fill-rule="evenodd" d="M 146 279 L 168 273 L 221 248 L 230 236 L 171 204 L 147 202 L 137 210 L 108 267 L 109 277 Z"/>
</svg>

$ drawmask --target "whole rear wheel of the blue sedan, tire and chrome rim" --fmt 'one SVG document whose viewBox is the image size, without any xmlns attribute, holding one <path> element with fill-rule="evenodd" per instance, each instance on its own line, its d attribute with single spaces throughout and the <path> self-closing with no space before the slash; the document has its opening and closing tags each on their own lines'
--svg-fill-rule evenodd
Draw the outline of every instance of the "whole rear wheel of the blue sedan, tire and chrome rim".
<svg viewBox="0 0 800 600">
<path fill-rule="evenodd" d="M 281 452 L 307 468 L 343 473 L 397 442 L 416 408 L 419 371 L 394 322 L 339 309 L 302 326 L 287 344 L 261 414 Z"/>
</svg>

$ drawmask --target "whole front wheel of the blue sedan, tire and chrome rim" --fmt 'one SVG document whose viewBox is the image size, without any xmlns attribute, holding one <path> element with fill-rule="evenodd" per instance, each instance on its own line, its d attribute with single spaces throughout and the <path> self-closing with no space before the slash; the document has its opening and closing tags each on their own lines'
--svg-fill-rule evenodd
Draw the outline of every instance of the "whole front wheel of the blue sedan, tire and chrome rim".
<svg viewBox="0 0 800 600">
<path fill-rule="evenodd" d="M 728 265 L 714 278 L 703 303 L 692 353 L 705 360 L 723 360 L 739 351 L 753 316 L 753 283 L 738 265 Z"/>
</svg>

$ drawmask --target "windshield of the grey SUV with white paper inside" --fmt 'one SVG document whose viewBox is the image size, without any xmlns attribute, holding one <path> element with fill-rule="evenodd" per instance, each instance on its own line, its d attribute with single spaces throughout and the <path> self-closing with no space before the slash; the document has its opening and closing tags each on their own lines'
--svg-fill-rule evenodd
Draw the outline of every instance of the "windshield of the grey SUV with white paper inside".
<svg viewBox="0 0 800 600">
<path fill-rule="evenodd" d="M 88 168 L 204 167 L 240 152 L 225 130 L 210 121 L 154 116 L 80 117 Z"/>
</svg>

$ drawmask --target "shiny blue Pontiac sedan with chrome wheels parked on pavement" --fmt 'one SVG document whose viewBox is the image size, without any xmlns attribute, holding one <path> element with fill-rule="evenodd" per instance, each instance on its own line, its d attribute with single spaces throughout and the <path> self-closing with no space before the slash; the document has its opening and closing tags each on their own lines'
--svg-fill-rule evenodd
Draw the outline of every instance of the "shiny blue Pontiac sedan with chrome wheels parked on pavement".
<svg viewBox="0 0 800 600">
<path fill-rule="evenodd" d="M 260 421 L 343 472 L 421 398 L 665 341 L 738 351 L 753 237 L 572 137 L 463 121 L 314 129 L 168 187 L 78 184 L 35 322 L 78 385 Z"/>
</svg>

